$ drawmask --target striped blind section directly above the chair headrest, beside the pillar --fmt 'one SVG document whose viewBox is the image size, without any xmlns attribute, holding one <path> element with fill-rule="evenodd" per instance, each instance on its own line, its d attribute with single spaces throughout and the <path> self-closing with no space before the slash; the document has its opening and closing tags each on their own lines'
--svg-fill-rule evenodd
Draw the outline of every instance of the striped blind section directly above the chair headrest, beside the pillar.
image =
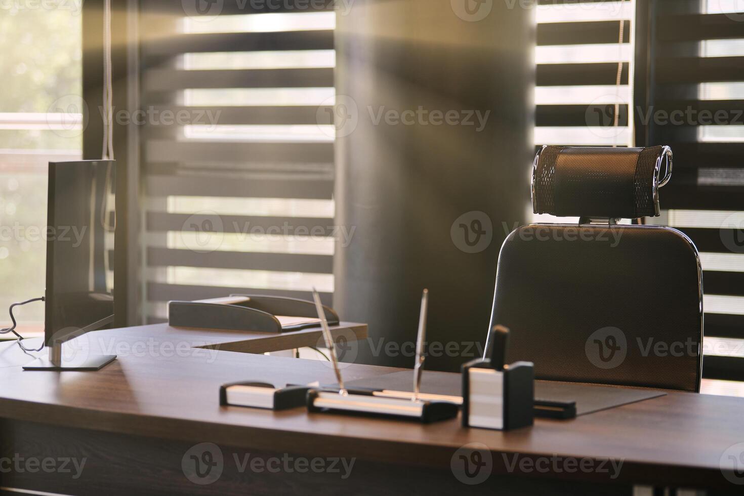
<svg viewBox="0 0 744 496">
<path fill-rule="evenodd" d="M 536 145 L 629 144 L 630 19 L 630 1 L 538 1 Z"/>
</svg>

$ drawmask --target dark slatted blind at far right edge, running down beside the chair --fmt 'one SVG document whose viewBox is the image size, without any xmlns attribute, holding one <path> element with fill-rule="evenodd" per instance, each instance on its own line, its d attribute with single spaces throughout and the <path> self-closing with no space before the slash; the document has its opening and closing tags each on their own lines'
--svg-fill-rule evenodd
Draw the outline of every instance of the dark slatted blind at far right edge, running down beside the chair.
<svg viewBox="0 0 744 496">
<path fill-rule="evenodd" d="M 661 206 L 701 253 L 704 376 L 744 380 L 744 2 L 642 4 L 652 71 L 638 91 L 640 144 L 674 152 Z"/>
</svg>

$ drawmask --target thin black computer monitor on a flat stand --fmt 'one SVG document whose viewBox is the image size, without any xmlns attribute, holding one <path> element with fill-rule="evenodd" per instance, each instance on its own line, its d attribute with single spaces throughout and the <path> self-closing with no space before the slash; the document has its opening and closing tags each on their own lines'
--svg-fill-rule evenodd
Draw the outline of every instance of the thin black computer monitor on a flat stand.
<svg viewBox="0 0 744 496">
<path fill-rule="evenodd" d="M 68 343 L 114 320 L 115 161 L 49 163 L 45 347 L 25 370 L 98 370 L 116 355 Z"/>
</svg>

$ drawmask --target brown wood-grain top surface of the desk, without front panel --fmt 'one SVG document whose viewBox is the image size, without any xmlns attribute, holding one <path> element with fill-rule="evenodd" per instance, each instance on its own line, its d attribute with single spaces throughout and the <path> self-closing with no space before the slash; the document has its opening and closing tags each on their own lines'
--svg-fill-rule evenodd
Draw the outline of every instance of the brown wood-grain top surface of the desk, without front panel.
<svg viewBox="0 0 744 496">
<path fill-rule="evenodd" d="M 158 330 L 159 329 L 159 330 Z M 521 457 L 622 460 L 614 482 L 725 486 L 720 464 L 731 445 L 744 442 L 744 399 L 669 393 L 656 399 L 580 416 L 537 419 L 532 428 L 501 432 L 464 429 L 458 421 L 419 425 L 387 419 L 220 407 L 220 384 L 240 380 L 307 383 L 334 381 L 324 361 L 194 348 L 181 355 L 162 347 L 184 332 L 145 326 L 102 332 L 114 337 L 119 358 L 98 372 L 25 372 L 0 368 L 0 415 L 7 419 L 90 428 L 164 439 L 215 442 L 240 448 L 317 456 L 359 457 L 449 470 L 452 454 L 480 442 L 493 453 L 494 471 Z M 202 336 L 203 337 L 203 336 Z M 152 338 L 155 352 L 135 352 Z M 230 343 L 231 338 L 225 339 Z M 97 340 L 91 341 L 94 347 Z M 7 352 L 0 347 L 0 355 Z M 175 349 L 175 348 L 174 348 Z M 121 352 L 121 350 L 132 350 Z M 211 352 L 211 353 L 204 353 Z M 344 378 L 395 369 L 349 364 Z M 508 459 L 508 460 L 507 460 Z M 732 465 L 731 465 L 732 466 Z M 516 473 L 521 473 L 519 466 Z M 533 476 L 545 474 L 533 473 Z M 578 471 L 551 477 L 601 480 Z"/>
</svg>

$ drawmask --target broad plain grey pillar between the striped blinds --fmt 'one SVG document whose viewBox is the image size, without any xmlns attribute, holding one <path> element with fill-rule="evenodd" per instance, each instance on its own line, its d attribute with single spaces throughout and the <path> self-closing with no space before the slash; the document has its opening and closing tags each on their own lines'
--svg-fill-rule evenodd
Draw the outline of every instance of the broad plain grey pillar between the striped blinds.
<svg viewBox="0 0 744 496">
<path fill-rule="evenodd" d="M 334 306 L 370 326 L 346 360 L 412 367 L 425 287 L 426 367 L 458 370 L 479 355 L 533 157 L 533 10 L 510 3 L 356 0 L 337 11 L 336 216 L 354 231 L 336 245 Z"/>
</svg>

